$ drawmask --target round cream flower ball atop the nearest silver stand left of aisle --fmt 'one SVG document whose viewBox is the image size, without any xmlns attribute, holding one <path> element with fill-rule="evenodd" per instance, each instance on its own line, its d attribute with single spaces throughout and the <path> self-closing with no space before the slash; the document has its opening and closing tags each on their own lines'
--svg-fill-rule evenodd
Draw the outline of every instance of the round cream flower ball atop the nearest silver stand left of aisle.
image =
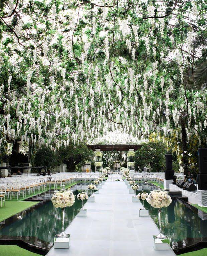
<svg viewBox="0 0 207 256">
<path fill-rule="evenodd" d="M 52 199 L 53 206 L 55 208 L 65 208 L 72 206 L 75 203 L 75 196 L 71 190 L 57 191 Z"/>
</svg>

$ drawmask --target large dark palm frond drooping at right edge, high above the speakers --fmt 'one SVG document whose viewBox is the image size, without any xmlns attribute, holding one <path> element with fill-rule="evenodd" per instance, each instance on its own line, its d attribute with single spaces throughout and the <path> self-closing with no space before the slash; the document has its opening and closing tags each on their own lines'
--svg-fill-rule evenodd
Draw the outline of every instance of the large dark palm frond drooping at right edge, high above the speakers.
<svg viewBox="0 0 207 256">
<path fill-rule="evenodd" d="M 207 83 L 207 60 L 186 70 L 184 83 L 188 89 L 202 89 Z"/>
</svg>

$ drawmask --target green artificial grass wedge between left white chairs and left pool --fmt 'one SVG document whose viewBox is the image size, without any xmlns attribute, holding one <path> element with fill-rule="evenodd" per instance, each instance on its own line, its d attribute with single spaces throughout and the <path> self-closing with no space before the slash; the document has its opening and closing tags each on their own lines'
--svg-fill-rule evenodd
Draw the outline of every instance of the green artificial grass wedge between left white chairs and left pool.
<svg viewBox="0 0 207 256">
<path fill-rule="evenodd" d="M 0 208 L 0 222 L 38 203 L 39 202 L 23 202 L 17 200 L 6 201 L 6 206 L 4 206 L 3 203 Z"/>
</svg>

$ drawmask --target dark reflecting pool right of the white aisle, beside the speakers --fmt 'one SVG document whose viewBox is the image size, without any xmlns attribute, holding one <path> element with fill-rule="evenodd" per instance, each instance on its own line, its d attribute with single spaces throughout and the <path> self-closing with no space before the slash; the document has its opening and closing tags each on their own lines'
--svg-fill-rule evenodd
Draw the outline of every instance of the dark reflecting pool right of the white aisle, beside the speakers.
<svg viewBox="0 0 207 256">
<path fill-rule="evenodd" d="M 147 202 L 145 207 L 159 227 L 158 209 Z M 175 252 L 199 242 L 207 242 L 207 214 L 179 199 L 173 199 L 170 206 L 162 208 L 162 230 L 169 236 Z"/>
</svg>

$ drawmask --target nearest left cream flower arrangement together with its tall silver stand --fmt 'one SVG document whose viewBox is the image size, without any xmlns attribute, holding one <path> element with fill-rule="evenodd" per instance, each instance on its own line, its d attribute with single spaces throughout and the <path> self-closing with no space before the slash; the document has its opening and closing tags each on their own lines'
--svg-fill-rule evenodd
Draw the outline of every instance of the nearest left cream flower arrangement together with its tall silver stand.
<svg viewBox="0 0 207 256">
<path fill-rule="evenodd" d="M 71 190 L 65 190 L 64 187 L 60 191 L 55 191 L 53 197 L 51 198 L 52 204 L 55 208 L 62 209 L 62 232 L 58 234 L 58 237 L 68 237 L 64 232 L 64 222 L 65 222 L 65 207 L 70 207 L 75 203 L 75 196 Z"/>
</svg>

